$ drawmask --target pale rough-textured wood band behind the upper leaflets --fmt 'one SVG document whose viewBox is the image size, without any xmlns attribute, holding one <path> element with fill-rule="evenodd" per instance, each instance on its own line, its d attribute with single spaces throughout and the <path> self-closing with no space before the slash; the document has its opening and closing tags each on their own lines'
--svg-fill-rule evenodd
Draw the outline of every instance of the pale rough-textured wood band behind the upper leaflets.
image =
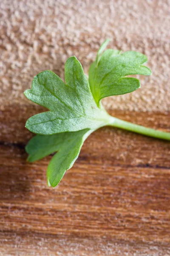
<svg viewBox="0 0 170 256">
<path fill-rule="evenodd" d="M 104 99 L 105 106 L 170 111 L 169 10 L 169 0 L 1 0 L 0 108 L 26 103 L 23 91 L 43 70 L 64 79 L 70 56 L 88 74 L 99 45 L 111 38 L 111 48 L 146 54 L 153 75 L 133 94 Z"/>
</svg>

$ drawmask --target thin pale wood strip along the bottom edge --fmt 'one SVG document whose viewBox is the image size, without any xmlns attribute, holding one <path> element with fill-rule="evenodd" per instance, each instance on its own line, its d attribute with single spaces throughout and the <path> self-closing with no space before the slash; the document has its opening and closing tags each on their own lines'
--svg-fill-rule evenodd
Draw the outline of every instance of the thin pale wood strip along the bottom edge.
<svg viewBox="0 0 170 256">
<path fill-rule="evenodd" d="M 0 256 L 168 256 L 168 245 L 136 243 L 100 237 L 77 238 L 75 236 L 44 233 L 0 233 Z M 3 247 L 2 247 L 3 244 Z"/>
</svg>

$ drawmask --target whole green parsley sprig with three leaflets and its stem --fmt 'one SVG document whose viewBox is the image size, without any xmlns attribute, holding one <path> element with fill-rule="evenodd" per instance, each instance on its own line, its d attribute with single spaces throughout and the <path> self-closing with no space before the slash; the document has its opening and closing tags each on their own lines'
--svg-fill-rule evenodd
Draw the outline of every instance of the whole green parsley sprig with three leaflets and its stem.
<svg viewBox="0 0 170 256">
<path fill-rule="evenodd" d="M 89 83 L 77 58 L 71 57 L 65 64 L 66 84 L 47 70 L 35 76 L 31 90 L 24 93 L 31 101 L 49 109 L 27 120 L 26 127 L 38 135 L 28 142 L 26 151 L 30 162 L 57 152 L 47 169 L 48 185 L 53 187 L 73 166 L 85 139 L 102 126 L 170 140 L 170 133 L 120 120 L 102 107 L 100 101 L 104 97 L 129 93 L 140 87 L 138 79 L 126 76 L 151 74 L 150 69 L 142 65 L 147 61 L 145 55 L 112 49 L 104 52 L 107 44 L 108 40 L 91 64 Z"/>
</svg>

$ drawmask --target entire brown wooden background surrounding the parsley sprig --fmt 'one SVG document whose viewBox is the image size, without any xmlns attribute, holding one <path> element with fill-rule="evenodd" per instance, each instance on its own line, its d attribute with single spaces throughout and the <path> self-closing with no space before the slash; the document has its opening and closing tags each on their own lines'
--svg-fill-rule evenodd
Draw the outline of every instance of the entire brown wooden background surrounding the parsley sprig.
<svg viewBox="0 0 170 256">
<path fill-rule="evenodd" d="M 169 1 L 0 1 L 0 256 L 169 256 L 170 142 L 102 128 L 57 188 L 51 156 L 26 161 L 23 91 L 43 70 L 64 79 L 71 55 L 85 73 L 99 45 L 148 57 L 142 88 L 104 100 L 116 117 L 170 131 Z"/>
</svg>

